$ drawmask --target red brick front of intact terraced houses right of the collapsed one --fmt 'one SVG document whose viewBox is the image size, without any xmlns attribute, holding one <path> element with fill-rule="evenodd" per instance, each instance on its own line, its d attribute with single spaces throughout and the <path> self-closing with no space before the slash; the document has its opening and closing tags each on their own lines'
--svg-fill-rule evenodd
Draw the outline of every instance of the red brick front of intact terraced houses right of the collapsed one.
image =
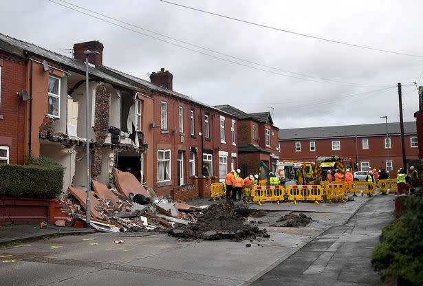
<svg viewBox="0 0 423 286">
<path fill-rule="evenodd" d="M 177 186 L 177 153 L 184 151 L 184 183 L 189 182 L 189 155 L 191 147 L 197 148 L 195 153 L 195 175 L 202 175 L 202 155 L 204 150 L 213 153 L 213 175 L 219 176 L 219 151 L 228 152 L 228 166 L 230 170 L 230 155 L 237 153 L 237 146 L 232 145 L 231 120 L 235 119 L 224 115 L 226 144 L 220 142 L 220 115 L 214 109 L 206 109 L 199 104 L 194 104 L 173 96 L 154 93 L 154 122 L 153 128 L 153 188 L 158 195 L 169 195 L 172 188 Z M 161 102 L 167 102 L 168 130 L 161 130 Z M 184 109 L 184 133 L 180 135 L 179 130 L 179 107 Z M 191 110 L 194 111 L 194 135 L 191 135 Z M 204 137 L 204 114 L 209 115 L 210 136 Z M 235 126 L 237 122 L 235 120 Z M 203 130 L 202 130 L 203 126 Z M 236 128 L 235 128 L 236 130 Z M 202 133 L 202 135 L 199 135 Z M 171 149 L 171 181 L 158 182 L 158 149 Z"/>
</svg>

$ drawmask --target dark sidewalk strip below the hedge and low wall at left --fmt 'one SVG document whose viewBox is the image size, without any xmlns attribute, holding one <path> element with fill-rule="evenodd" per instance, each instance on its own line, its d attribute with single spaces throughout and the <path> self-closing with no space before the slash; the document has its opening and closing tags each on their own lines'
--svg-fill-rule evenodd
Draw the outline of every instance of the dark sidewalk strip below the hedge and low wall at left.
<svg viewBox="0 0 423 286">
<path fill-rule="evenodd" d="M 34 241 L 58 235 L 92 234 L 95 230 L 85 228 L 61 228 L 54 225 L 47 225 L 47 228 L 40 228 L 39 225 L 2 225 L 0 226 L 0 246 L 17 242 Z"/>
</svg>

